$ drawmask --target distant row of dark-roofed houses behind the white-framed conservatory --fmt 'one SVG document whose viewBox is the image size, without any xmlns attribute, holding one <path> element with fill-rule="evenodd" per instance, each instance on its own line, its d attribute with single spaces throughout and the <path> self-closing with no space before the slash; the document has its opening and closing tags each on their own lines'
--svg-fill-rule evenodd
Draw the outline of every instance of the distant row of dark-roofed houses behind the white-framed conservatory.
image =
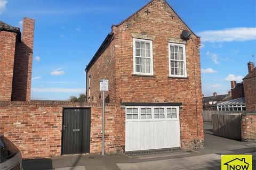
<svg viewBox="0 0 256 170">
<path fill-rule="evenodd" d="M 213 96 L 203 95 L 203 111 L 217 111 L 217 104 L 230 99 L 232 99 L 231 91 L 228 91 L 227 95 L 217 95 L 217 92 L 214 92 Z"/>
</svg>

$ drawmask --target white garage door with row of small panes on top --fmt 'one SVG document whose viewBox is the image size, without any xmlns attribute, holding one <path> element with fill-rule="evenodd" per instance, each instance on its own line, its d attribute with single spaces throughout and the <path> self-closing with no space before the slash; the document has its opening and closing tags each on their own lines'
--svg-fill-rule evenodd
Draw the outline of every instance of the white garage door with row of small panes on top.
<svg viewBox="0 0 256 170">
<path fill-rule="evenodd" d="M 125 151 L 180 147 L 179 107 L 126 107 Z"/>
</svg>

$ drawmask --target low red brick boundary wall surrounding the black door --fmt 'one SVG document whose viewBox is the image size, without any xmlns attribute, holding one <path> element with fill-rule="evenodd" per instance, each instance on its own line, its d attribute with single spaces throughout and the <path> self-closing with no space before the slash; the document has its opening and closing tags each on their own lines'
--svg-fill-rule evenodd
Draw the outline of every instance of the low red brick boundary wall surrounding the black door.
<svg viewBox="0 0 256 170">
<path fill-rule="evenodd" d="M 63 107 L 91 107 L 91 153 L 102 149 L 102 106 L 68 102 L 0 101 L 0 133 L 22 152 L 23 158 L 54 157 L 61 152 Z M 122 152 L 123 118 L 115 106 L 106 106 L 106 152 Z"/>
</svg>

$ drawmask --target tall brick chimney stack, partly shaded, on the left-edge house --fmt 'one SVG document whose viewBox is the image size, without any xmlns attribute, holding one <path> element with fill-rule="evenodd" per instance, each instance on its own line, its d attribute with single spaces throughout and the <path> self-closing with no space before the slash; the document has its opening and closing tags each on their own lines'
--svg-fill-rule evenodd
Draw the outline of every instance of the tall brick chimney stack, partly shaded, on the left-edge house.
<svg viewBox="0 0 256 170">
<path fill-rule="evenodd" d="M 23 18 L 22 40 L 14 60 L 12 100 L 30 101 L 35 20 Z"/>
</svg>

